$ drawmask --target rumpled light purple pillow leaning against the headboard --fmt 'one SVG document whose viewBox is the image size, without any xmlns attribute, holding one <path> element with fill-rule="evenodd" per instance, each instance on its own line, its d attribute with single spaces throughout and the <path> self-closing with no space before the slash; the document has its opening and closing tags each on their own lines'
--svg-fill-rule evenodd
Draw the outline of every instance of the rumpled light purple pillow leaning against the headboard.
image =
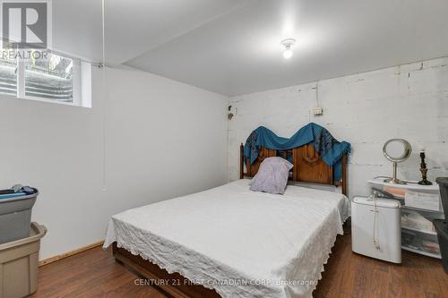
<svg viewBox="0 0 448 298">
<path fill-rule="evenodd" d="M 251 182 L 251 191 L 285 193 L 292 164 L 284 158 L 264 158 Z"/>
</svg>

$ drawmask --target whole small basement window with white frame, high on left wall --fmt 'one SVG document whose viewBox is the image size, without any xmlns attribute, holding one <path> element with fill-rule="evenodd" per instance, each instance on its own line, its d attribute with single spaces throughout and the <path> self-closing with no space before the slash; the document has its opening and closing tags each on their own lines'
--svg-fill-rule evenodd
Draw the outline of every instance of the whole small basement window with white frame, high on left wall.
<svg viewBox="0 0 448 298">
<path fill-rule="evenodd" d="M 90 64 L 55 53 L 47 53 L 38 59 L 11 56 L 0 56 L 1 94 L 91 107 Z"/>
</svg>

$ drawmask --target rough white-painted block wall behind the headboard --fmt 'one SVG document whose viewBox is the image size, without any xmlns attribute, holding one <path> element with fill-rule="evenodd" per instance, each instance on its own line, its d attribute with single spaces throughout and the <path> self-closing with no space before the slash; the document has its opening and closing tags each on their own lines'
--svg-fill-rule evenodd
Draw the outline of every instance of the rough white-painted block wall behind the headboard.
<svg viewBox="0 0 448 298">
<path fill-rule="evenodd" d="M 392 175 L 382 153 L 383 143 L 392 138 L 413 146 L 412 156 L 400 165 L 401 178 L 420 179 L 422 147 L 429 179 L 448 175 L 448 58 L 319 81 L 317 86 L 323 116 L 310 115 L 316 82 L 230 98 L 235 114 L 228 123 L 230 180 L 239 175 L 239 144 L 256 127 L 289 137 L 309 122 L 351 143 L 349 195 L 366 194 L 366 180 L 376 175 Z"/>
</svg>

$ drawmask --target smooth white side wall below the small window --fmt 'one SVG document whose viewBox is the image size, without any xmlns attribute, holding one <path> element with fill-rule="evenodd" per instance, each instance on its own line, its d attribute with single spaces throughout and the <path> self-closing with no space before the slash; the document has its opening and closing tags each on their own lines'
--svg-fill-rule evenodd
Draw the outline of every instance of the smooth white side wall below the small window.
<svg viewBox="0 0 448 298">
<path fill-rule="evenodd" d="M 103 239 L 117 212 L 227 182 L 228 98 L 134 70 L 106 83 L 93 73 L 91 109 L 0 97 L 0 187 L 39 188 L 41 260 Z"/>
</svg>

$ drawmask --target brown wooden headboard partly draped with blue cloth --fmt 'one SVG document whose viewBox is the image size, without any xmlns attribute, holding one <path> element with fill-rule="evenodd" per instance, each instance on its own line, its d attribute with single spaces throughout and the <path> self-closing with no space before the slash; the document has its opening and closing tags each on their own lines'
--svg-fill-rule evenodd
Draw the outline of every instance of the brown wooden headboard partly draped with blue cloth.
<svg viewBox="0 0 448 298">
<path fill-rule="evenodd" d="M 336 187 L 342 187 L 342 193 L 347 195 L 347 155 L 342 156 L 342 173 L 340 181 L 333 181 L 333 167 L 327 166 L 319 157 L 319 154 L 315 152 L 312 144 L 307 144 L 301 147 L 297 147 L 289 150 L 275 150 L 262 147 L 258 158 L 251 165 L 248 158 L 246 160 L 246 172 L 245 172 L 245 160 L 244 160 L 244 145 L 241 144 L 239 148 L 240 166 L 239 177 L 254 177 L 258 172 L 258 168 L 264 158 L 271 157 L 292 157 L 292 168 L 289 180 L 302 182 L 302 183 L 319 183 L 334 185 Z"/>
</svg>

